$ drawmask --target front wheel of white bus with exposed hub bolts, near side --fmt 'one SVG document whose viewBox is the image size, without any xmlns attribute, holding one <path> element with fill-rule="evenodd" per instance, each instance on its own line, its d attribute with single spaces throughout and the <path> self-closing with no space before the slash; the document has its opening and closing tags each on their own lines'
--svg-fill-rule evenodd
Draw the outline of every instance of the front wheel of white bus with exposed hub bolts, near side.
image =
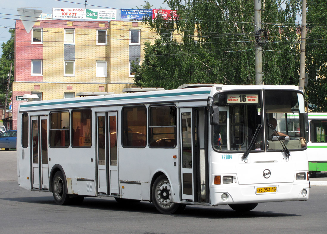
<svg viewBox="0 0 327 234">
<path fill-rule="evenodd" d="M 163 214 L 173 214 L 185 208 L 179 203 L 172 202 L 170 183 L 165 175 L 154 181 L 151 195 L 154 206 Z"/>
</svg>

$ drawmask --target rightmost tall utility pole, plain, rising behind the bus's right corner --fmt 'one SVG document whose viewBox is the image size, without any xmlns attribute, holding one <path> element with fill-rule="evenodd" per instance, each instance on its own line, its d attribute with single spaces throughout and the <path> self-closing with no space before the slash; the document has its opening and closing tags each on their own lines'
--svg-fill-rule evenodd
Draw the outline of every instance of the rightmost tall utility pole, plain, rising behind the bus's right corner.
<svg viewBox="0 0 327 234">
<path fill-rule="evenodd" d="M 300 86 L 304 92 L 305 78 L 305 30 L 306 30 L 306 0 L 302 0 L 302 24 L 301 24 L 301 44 L 300 44 Z"/>
</svg>

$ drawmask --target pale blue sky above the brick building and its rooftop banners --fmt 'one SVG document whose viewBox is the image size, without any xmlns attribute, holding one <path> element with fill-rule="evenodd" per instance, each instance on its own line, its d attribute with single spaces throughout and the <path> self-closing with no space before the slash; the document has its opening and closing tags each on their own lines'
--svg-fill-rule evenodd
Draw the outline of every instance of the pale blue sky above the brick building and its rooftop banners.
<svg viewBox="0 0 327 234">
<path fill-rule="evenodd" d="M 148 0 L 153 5 L 152 9 L 160 7 L 169 9 L 163 0 Z M 88 6 L 89 5 L 89 6 Z M 93 6 L 90 6 L 93 5 Z M 89 9 L 121 9 L 121 8 L 142 8 L 144 0 L 87 0 L 86 8 Z M 15 27 L 15 20 L 19 19 L 17 8 L 31 8 L 42 10 L 42 13 L 52 13 L 52 8 L 84 8 L 85 0 L 1 0 L 0 4 L 0 45 L 10 39 L 9 29 Z M 7 15 L 6 15 L 7 14 Z M 0 55 L 2 49 L 0 48 Z"/>
</svg>

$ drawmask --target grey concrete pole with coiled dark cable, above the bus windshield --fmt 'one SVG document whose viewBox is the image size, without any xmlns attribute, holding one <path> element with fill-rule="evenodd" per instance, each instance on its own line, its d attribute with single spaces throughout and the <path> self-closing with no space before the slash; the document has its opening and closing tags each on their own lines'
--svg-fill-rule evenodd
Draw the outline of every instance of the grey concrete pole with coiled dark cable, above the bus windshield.
<svg viewBox="0 0 327 234">
<path fill-rule="evenodd" d="M 261 29 L 261 0 L 254 0 L 254 31 Z M 262 84 L 262 46 L 255 41 L 255 84 Z"/>
</svg>

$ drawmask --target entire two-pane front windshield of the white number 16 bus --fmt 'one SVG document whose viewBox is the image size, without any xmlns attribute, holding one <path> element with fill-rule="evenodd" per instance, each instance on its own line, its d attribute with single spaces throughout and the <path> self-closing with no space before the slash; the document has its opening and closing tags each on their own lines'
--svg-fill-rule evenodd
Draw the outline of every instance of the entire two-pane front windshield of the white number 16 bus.
<svg viewBox="0 0 327 234">
<path fill-rule="evenodd" d="M 302 138 L 305 142 L 305 116 L 300 92 L 228 91 L 216 94 L 214 102 L 219 107 L 219 125 L 212 127 L 215 150 L 246 151 L 249 148 L 262 152 L 280 151 L 285 145 L 288 150 L 306 146 L 301 144 Z M 257 128 L 259 132 L 254 137 Z"/>
</svg>

